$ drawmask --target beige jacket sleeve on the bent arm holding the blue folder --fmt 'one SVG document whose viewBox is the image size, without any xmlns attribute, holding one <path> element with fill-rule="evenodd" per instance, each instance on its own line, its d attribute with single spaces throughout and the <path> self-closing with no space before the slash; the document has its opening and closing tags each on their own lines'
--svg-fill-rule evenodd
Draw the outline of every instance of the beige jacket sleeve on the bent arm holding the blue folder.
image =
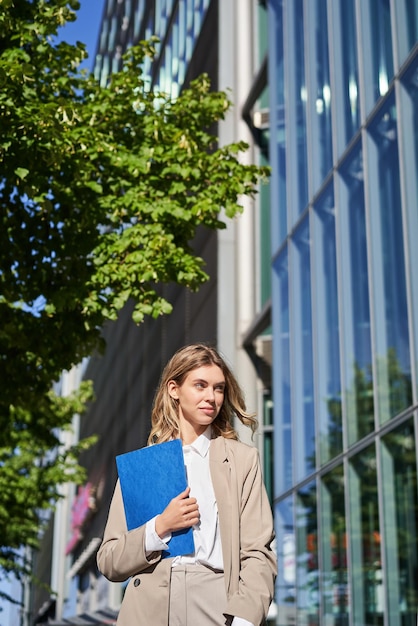
<svg viewBox="0 0 418 626">
<path fill-rule="evenodd" d="M 112 582 L 122 582 L 161 559 L 161 552 L 145 555 L 145 524 L 128 531 L 119 480 L 116 483 L 103 541 L 97 553 L 99 571 Z"/>
</svg>

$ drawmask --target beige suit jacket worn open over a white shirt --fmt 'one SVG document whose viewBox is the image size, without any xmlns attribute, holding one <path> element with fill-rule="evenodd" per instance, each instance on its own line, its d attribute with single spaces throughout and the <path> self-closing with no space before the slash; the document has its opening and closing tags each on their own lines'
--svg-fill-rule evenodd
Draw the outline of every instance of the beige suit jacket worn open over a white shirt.
<svg viewBox="0 0 418 626">
<path fill-rule="evenodd" d="M 210 471 L 218 505 L 225 570 L 225 615 L 262 624 L 273 598 L 276 557 L 270 504 L 258 452 L 244 443 L 211 441 Z M 131 578 L 118 626 L 167 626 L 171 559 L 145 556 L 145 526 L 127 531 L 119 482 L 110 505 L 99 570 L 113 582 Z"/>
</svg>

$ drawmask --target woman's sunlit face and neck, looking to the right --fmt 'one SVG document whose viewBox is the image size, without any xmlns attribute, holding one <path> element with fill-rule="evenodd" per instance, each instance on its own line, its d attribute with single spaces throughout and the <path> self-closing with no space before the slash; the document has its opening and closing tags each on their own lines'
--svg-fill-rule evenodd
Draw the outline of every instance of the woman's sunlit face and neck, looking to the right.
<svg viewBox="0 0 418 626">
<path fill-rule="evenodd" d="M 174 380 L 168 391 L 178 401 L 183 443 L 192 443 L 221 410 L 225 396 L 225 376 L 217 365 L 205 365 L 188 373 L 181 385 Z"/>
</svg>

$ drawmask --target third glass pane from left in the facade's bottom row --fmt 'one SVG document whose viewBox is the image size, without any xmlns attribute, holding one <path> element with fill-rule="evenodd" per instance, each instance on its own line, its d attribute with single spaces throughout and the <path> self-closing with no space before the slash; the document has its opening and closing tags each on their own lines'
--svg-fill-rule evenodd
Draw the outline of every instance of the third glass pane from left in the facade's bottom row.
<svg viewBox="0 0 418 626">
<path fill-rule="evenodd" d="M 322 614 L 327 626 L 349 623 L 350 583 L 347 576 L 347 541 L 342 465 L 322 479 Z"/>
</svg>

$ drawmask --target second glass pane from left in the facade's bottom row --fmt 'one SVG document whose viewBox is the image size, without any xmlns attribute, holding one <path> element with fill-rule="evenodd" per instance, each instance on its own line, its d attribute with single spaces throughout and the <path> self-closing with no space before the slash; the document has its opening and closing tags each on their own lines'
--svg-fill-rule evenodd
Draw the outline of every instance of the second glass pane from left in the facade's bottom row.
<svg viewBox="0 0 418 626">
<path fill-rule="evenodd" d="M 319 570 L 316 484 L 309 483 L 296 500 L 296 580 L 298 626 L 319 624 Z"/>
</svg>

